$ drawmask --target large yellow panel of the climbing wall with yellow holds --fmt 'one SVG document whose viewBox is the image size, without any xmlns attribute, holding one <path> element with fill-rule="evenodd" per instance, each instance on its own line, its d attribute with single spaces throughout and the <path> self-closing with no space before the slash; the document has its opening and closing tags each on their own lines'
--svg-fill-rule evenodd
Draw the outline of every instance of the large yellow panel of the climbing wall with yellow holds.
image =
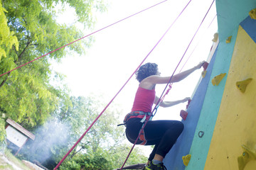
<svg viewBox="0 0 256 170">
<path fill-rule="evenodd" d="M 242 93 L 235 84 L 248 78 L 252 81 Z M 256 45 L 242 27 L 238 30 L 205 169 L 238 170 L 241 145 L 256 151 Z M 245 169 L 255 170 L 250 164 Z"/>
</svg>

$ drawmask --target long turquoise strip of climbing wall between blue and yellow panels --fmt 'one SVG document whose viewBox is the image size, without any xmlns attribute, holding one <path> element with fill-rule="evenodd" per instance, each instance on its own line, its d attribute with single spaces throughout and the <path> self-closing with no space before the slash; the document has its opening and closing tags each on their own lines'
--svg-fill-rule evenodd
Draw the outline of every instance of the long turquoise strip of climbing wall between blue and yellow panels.
<svg viewBox="0 0 256 170">
<path fill-rule="evenodd" d="M 232 34 L 233 39 L 236 38 L 236 33 L 234 31 Z M 225 41 L 219 42 L 215 62 L 213 64 L 213 71 L 210 74 L 210 82 L 206 87 L 206 96 L 203 101 L 200 118 L 196 126 L 196 132 L 193 134 L 190 152 L 188 152 L 188 154 L 191 154 L 191 160 L 188 166 L 186 166 L 186 170 L 204 169 L 227 76 L 221 77 L 223 79 L 215 79 L 218 80 L 214 81 L 215 85 L 213 85 L 211 81 L 215 77 L 228 72 L 234 45 L 235 42 L 233 40 L 231 40 L 230 43 L 226 43 Z"/>
</svg>

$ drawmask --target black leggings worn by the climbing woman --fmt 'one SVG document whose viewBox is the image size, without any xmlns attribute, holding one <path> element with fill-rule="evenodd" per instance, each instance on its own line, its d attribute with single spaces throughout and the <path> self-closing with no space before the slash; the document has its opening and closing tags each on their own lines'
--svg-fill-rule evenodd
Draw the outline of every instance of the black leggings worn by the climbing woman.
<svg viewBox="0 0 256 170">
<path fill-rule="evenodd" d="M 141 120 L 141 118 L 131 118 L 127 121 L 125 133 L 129 142 L 133 144 L 142 129 Z M 146 142 L 138 140 L 137 145 L 155 145 L 149 161 L 153 160 L 155 154 L 165 157 L 181 135 L 183 128 L 183 123 L 177 120 L 149 120 L 144 128 Z"/>
</svg>

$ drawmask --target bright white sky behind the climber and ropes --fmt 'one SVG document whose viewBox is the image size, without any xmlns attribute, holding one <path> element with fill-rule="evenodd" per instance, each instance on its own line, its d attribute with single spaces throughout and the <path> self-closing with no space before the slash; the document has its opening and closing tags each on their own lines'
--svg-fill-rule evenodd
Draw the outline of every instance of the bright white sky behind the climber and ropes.
<svg viewBox="0 0 256 170">
<path fill-rule="evenodd" d="M 108 12 L 97 14 L 95 29 L 91 32 L 86 31 L 85 35 L 159 2 L 156 0 L 112 0 L 111 5 L 108 7 Z M 95 42 L 87 50 L 87 54 L 81 57 L 70 54 L 63 59 L 61 64 L 54 64 L 53 67 L 57 72 L 67 76 L 65 81 L 73 96 L 103 94 L 105 98 L 102 98 L 102 101 L 108 103 L 156 42 L 164 35 L 167 28 L 171 26 L 171 23 L 187 3 L 188 0 L 169 0 L 110 28 L 106 28 L 93 35 Z M 178 61 L 185 52 L 188 43 L 191 41 L 211 3 L 212 0 L 191 1 L 191 4 L 189 4 L 182 16 L 178 18 L 169 33 L 149 55 L 146 62 L 156 62 L 159 65 L 159 71 L 162 76 L 170 76 L 174 72 Z M 215 4 L 213 4 L 206 21 L 201 26 L 198 35 L 196 35 L 181 63 L 182 67 L 193 48 L 199 42 L 183 70 L 193 67 L 202 60 L 207 60 L 210 47 L 213 44 L 211 41 L 213 34 L 217 31 L 217 19 L 215 18 L 213 21 L 215 14 Z M 66 23 L 73 22 L 73 16 L 70 13 L 67 16 L 62 16 L 62 18 L 65 19 Z M 208 28 L 211 21 L 213 23 Z M 201 71 L 196 71 L 191 77 L 174 84 L 165 101 L 191 97 L 198 79 L 201 77 Z M 120 115 L 120 123 L 122 123 L 124 115 L 129 113 L 132 108 L 137 86 L 138 82 L 134 76 L 117 98 L 114 99 L 114 103 L 119 104 L 120 109 L 123 110 Z M 157 86 L 156 94 L 158 96 L 161 95 L 164 87 L 164 85 Z M 154 120 L 181 120 L 179 112 L 181 109 L 185 110 L 186 104 L 179 104 L 171 108 L 159 108 Z"/>
</svg>

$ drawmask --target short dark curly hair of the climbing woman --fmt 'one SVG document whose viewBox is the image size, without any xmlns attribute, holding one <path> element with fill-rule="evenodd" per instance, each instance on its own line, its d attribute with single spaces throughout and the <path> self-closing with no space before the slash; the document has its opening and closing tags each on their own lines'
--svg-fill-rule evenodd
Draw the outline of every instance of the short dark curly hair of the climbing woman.
<svg viewBox="0 0 256 170">
<path fill-rule="evenodd" d="M 143 64 L 139 69 L 137 70 L 136 79 L 141 82 L 146 77 L 156 75 L 158 71 L 158 65 L 155 63 L 148 62 L 146 64 Z"/>
</svg>

